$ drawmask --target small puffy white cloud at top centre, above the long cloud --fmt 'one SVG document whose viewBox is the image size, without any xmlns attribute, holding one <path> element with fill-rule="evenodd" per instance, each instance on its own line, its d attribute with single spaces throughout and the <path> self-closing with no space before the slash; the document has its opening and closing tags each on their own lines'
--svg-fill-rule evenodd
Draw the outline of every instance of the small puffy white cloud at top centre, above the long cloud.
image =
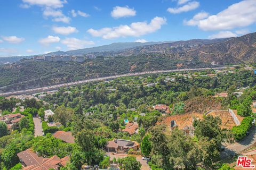
<svg viewBox="0 0 256 170">
<path fill-rule="evenodd" d="M 121 7 L 116 6 L 113 8 L 113 11 L 111 12 L 111 16 L 113 18 L 121 18 L 121 17 L 129 17 L 129 16 L 135 16 L 136 11 L 132 8 L 129 8 L 129 6 Z"/>
</svg>

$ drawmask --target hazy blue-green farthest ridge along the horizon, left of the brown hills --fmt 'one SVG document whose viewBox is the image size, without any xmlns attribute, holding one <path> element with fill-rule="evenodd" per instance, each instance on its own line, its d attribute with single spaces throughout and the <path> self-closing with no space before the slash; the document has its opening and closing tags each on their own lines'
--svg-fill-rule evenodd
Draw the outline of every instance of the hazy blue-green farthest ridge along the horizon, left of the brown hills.
<svg viewBox="0 0 256 170">
<path fill-rule="evenodd" d="M 123 50 L 126 48 L 140 47 L 140 46 L 153 45 L 153 44 L 162 44 L 166 42 L 173 42 L 173 41 L 147 42 L 147 43 L 113 43 L 110 45 L 76 49 L 76 50 L 70 50 L 67 52 L 58 51 L 58 52 L 49 53 L 49 55 L 79 55 L 79 54 L 87 54 L 87 53 L 94 53 L 94 52 L 117 52 L 118 50 Z"/>
</svg>

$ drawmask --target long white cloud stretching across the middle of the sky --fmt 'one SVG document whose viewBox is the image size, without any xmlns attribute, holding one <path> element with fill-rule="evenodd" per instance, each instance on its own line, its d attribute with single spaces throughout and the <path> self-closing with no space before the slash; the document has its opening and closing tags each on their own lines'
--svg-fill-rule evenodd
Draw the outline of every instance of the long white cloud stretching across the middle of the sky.
<svg viewBox="0 0 256 170">
<path fill-rule="evenodd" d="M 104 39 L 139 37 L 161 29 L 165 23 L 165 18 L 156 16 L 149 24 L 147 22 L 133 22 L 131 25 L 119 25 L 113 28 L 102 28 L 100 30 L 89 29 L 87 32 L 94 37 L 102 37 Z"/>
</svg>

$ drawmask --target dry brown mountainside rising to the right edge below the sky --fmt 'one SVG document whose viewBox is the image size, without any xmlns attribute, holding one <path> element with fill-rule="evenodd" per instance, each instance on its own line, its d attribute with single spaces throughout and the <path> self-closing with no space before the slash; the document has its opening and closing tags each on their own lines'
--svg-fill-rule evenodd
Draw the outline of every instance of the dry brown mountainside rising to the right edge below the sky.
<svg viewBox="0 0 256 170">
<path fill-rule="evenodd" d="M 193 49 L 187 52 L 186 56 L 197 56 L 203 62 L 254 63 L 256 60 L 256 32 Z"/>
</svg>

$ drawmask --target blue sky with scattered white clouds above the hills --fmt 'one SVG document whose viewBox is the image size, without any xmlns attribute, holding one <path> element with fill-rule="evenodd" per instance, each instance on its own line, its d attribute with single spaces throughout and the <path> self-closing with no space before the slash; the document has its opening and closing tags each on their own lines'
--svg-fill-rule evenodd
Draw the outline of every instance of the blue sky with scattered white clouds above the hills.
<svg viewBox="0 0 256 170">
<path fill-rule="evenodd" d="M 256 30 L 255 0 L 0 1 L 0 56 L 116 42 L 236 37 Z"/>
</svg>

